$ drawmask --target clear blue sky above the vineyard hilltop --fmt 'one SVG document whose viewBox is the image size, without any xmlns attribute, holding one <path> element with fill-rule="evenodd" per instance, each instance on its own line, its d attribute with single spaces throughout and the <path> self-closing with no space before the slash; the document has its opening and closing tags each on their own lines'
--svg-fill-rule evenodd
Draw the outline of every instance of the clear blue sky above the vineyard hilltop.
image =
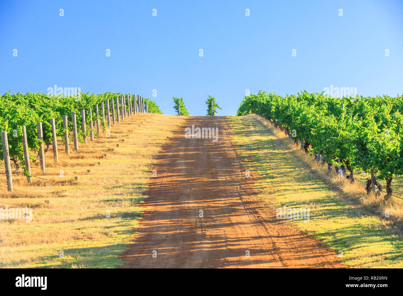
<svg viewBox="0 0 403 296">
<path fill-rule="evenodd" d="M 395 96 L 403 93 L 402 15 L 401 0 L 0 0 L 0 93 L 55 84 L 131 92 L 164 114 L 174 114 L 175 96 L 191 115 L 206 114 L 206 93 L 217 115 L 235 115 L 246 89 L 285 95 L 333 85 Z"/>
</svg>

